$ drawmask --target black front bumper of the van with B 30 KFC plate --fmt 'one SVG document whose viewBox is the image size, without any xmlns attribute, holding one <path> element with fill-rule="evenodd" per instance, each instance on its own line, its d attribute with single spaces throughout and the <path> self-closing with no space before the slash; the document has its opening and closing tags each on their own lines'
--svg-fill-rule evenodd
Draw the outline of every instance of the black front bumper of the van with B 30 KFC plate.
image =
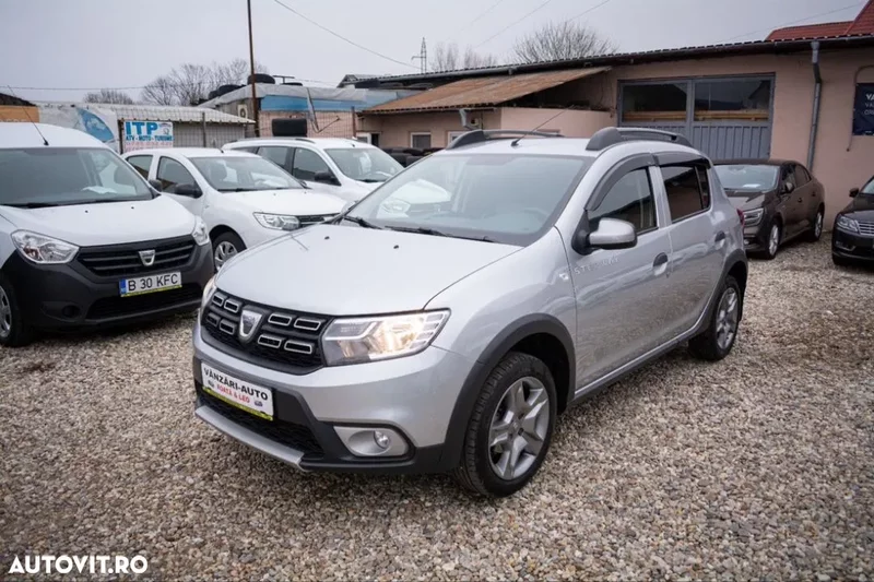
<svg viewBox="0 0 874 582">
<path fill-rule="evenodd" d="M 117 277 L 91 273 L 76 261 L 37 265 L 17 252 L 2 268 L 15 289 L 28 325 L 40 330 L 106 328 L 190 311 L 200 306 L 214 268 L 210 246 L 194 248 L 189 262 L 167 271 L 181 273 L 178 289 L 120 297 Z"/>
</svg>

